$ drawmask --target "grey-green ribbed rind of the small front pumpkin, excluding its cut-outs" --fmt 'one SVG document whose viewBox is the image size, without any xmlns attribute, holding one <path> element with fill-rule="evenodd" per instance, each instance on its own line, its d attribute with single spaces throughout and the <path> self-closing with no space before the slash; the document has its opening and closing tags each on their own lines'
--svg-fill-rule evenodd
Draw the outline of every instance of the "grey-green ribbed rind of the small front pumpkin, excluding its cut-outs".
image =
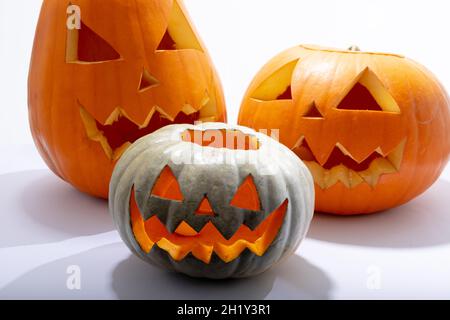
<svg viewBox="0 0 450 320">
<path fill-rule="evenodd" d="M 182 141 L 186 130 L 240 130 L 254 135 L 260 141 L 258 150 L 230 150 L 211 148 Z M 174 138 L 175 137 L 175 138 Z M 180 163 L 186 154 L 207 152 L 194 164 Z M 255 162 L 243 162 L 249 153 L 256 155 Z M 219 160 L 227 155 L 230 164 Z M 217 161 L 211 164 L 211 161 Z M 206 163 L 207 162 L 207 163 Z M 178 179 L 184 202 L 161 200 L 155 202 L 151 190 L 162 170 L 169 166 Z M 277 174 L 268 174 L 276 169 Z M 240 209 L 230 205 L 239 185 L 249 175 L 254 179 L 261 201 L 261 211 Z M 165 250 L 154 245 L 149 253 L 136 241 L 130 224 L 130 197 L 132 190 L 143 219 L 157 215 L 169 232 L 180 223 L 188 223 L 199 232 L 206 223 L 214 226 L 227 239 L 246 225 L 256 228 L 284 201 L 288 201 L 283 224 L 262 256 L 246 249 L 236 259 L 225 262 L 213 253 L 205 263 L 192 254 L 180 261 L 174 260 Z M 207 194 L 215 216 L 196 215 L 195 211 Z M 122 239 L 143 260 L 169 270 L 193 277 L 230 278 L 248 277 L 264 272 L 276 262 L 292 254 L 306 236 L 314 207 L 312 177 L 302 162 L 275 140 L 239 126 L 206 123 L 201 126 L 171 125 L 138 140 L 117 164 L 110 185 L 110 212 Z"/>
</svg>

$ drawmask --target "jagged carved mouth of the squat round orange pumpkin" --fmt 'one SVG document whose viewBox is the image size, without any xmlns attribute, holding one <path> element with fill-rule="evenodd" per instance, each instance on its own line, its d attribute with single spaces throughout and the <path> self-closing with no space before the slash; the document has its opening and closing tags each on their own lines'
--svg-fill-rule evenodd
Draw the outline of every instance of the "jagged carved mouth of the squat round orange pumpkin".
<svg viewBox="0 0 450 320">
<path fill-rule="evenodd" d="M 377 148 L 363 161 L 356 161 L 342 144 L 337 143 L 324 164 L 317 161 L 304 137 L 293 151 L 309 168 L 315 183 L 321 189 L 328 189 L 338 182 L 347 188 L 355 188 L 362 183 L 373 188 L 382 175 L 400 170 L 405 144 L 406 139 L 388 154 Z"/>
</svg>

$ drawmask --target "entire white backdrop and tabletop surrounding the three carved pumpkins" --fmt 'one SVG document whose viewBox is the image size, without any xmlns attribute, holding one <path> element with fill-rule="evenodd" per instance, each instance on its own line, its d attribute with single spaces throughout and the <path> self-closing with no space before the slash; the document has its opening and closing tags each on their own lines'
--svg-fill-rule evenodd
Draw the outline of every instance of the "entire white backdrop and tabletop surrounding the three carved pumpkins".
<svg viewBox="0 0 450 320">
<path fill-rule="evenodd" d="M 105 203 L 56 179 L 32 145 L 27 72 L 40 5 L 0 0 L 0 297 L 450 298 L 449 170 L 427 193 L 387 213 L 317 216 L 298 255 L 256 279 L 191 281 L 130 257 Z M 221 75 L 230 122 L 259 68 L 301 43 L 404 54 L 450 88 L 449 1 L 186 0 L 186 6 Z M 81 291 L 66 287 L 71 264 L 82 268 Z"/>
</svg>

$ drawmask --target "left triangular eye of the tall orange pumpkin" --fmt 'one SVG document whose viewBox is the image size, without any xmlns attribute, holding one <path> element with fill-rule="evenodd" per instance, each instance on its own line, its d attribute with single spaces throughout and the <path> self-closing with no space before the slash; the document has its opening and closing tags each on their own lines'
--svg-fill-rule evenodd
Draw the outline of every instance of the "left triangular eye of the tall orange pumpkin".
<svg viewBox="0 0 450 320">
<path fill-rule="evenodd" d="M 67 31 L 66 62 L 95 63 L 119 60 L 120 54 L 81 21 L 81 28 Z"/>
</svg>

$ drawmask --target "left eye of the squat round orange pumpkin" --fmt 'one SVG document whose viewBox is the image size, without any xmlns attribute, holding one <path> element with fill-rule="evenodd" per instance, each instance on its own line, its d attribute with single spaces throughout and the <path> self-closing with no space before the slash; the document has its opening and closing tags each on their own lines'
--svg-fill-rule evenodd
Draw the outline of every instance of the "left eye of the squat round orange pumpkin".
<svg viewBox="0 0 450 320">
<path fill-rule="evenodd" d="M 262 101 L 292 100 L 291 80 L 298 60 L 275 71 L 253 92 L 253 99 Z"/>
</svg>

